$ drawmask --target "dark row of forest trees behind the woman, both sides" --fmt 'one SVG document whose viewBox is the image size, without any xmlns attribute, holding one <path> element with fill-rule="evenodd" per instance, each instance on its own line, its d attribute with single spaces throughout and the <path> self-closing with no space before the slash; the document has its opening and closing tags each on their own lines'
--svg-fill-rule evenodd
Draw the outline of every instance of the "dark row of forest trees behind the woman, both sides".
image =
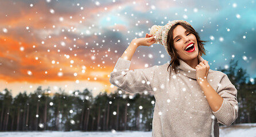
<svg viewBox="0 0 256 137">
<path fill-rule="evenodd" d="M 246 82 L 246 70 L 231 60 L 228 75 L 238 90 L 239 115 L 236 123 L 256 122 L 256 82 Z M 254 81 L 256 78 L 254 78 Z M 121 89 L 93 97 L 87 88 L 67 94 L 50 88 L 13 98 L 5 88 L 0 92 L 0 131 L 151 131 L 155 99 L 150 92 L 128 94 Z"/>
</svg>

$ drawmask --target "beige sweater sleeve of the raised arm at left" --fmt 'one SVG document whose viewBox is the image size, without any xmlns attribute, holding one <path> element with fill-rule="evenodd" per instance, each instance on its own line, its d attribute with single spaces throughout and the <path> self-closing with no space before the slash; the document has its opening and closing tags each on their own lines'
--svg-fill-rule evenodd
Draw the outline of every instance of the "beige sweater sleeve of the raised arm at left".
<svg viewBox="0 0 256 137">
<path fill-rule="evenodd" d="M 150 82 L 156 66 L 129 70 L 131 61 L 119 58 L 114 70 L 110 73 L 110 83 L 131 93 L 152 91 Z"/>
</svg>

